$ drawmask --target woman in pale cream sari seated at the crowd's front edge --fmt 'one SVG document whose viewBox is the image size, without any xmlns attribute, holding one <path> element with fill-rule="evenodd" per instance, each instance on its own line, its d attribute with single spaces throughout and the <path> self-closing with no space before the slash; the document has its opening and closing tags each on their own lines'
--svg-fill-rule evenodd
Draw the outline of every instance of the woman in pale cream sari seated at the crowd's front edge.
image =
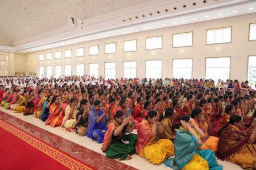
<svg viewBox="0 0 256 170">
<path fill-rule="evenodd" d="M 65 116 L 61 126 L 64 127 L 64 130 L 67 132 L 75 132 L 76 114 L 78 113 L 78 109 L 76 108 L 77 105 L 78 101 L 76 98 L 71 98 L 70 104 L 67 105 L 65 109 Z"/>
</svg>

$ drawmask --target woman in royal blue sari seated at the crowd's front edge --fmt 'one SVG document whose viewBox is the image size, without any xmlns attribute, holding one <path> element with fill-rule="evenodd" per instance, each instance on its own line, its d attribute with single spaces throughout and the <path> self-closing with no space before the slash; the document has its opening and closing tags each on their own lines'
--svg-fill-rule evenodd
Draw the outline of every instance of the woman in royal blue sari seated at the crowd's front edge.
<svg viewBox="0 0 256 170">
<path fill-rule="evenodd" d="M 99 100 L 96 100 L 93 105 L 94 107 L 89 112 L 87 136 L 98 143 L 102 143 L 111 115 L 107 115 L 102 110 L 102 103 Z"/>
</svg>

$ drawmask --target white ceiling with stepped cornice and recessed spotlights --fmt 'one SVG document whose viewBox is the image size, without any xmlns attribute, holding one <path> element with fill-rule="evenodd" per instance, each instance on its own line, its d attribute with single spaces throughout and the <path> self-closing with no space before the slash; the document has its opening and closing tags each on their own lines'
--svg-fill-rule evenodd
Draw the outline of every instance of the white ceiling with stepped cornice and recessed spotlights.
<svg viewBox="0 0 256 170">
<path fill-rule="evenodd" d="M 237 16 L 255 12 L 255 9 L 254 0 L 4 0 L 0 1 L 0 38 L 12 46 L 0 46 L 0 50 L 38 51 Z M 71 24 L 70 16 L 75 18 L 76 24 Z"/>
</svg>

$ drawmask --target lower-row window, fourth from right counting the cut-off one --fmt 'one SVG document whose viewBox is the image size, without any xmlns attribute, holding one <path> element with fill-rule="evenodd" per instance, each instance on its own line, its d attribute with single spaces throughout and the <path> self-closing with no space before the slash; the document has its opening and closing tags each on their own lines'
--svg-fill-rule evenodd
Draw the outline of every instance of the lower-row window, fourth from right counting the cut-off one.
<svg viewBox="0 0 256 170">
<path fill-rule="evenodd" d="M 146 61 L 146 78 L 162 78 L 162 60 Z"/>
</svg>

